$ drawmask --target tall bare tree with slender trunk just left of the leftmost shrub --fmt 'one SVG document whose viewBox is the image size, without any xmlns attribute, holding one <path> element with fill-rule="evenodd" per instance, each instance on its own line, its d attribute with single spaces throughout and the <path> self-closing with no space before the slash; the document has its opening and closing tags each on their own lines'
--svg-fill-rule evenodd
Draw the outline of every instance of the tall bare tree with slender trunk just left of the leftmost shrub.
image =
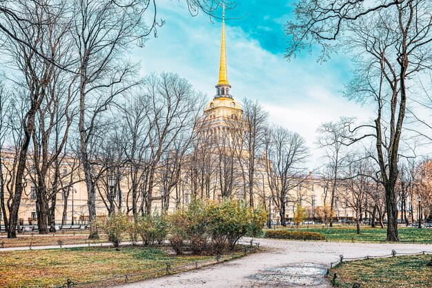
<svg viewBox="0 0 432 288">
<path fill-rule="evenodd" d="M 71 35 L 79 56 L 79 138 L 81 164 L 86 178 L 89 221 L 96 217 L 96 183 L 92 175 L 93 136 L 100 128 L 98 121 L 107 112 L 116 96 L 133 86 L 135 66 L 124 61 L 122 54 L 132 41 L 144 39 L 150 33 L 143 23 L 150 1 L 73 1 Z M 155 22 L 150 25 L 154 28 Z M 98 238 L 95 225 L 89 238 Z"/>
</svg>

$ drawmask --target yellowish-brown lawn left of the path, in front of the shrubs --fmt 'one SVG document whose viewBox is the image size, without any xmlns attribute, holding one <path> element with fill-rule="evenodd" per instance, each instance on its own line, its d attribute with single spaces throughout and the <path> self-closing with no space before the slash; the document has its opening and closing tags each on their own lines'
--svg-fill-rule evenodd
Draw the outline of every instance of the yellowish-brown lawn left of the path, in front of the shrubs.
<svg viewBox="0 0 432 288">
<path fill-rule="evenodd" d="M 215 257 L 170 256 L 164 247 L 121 247 L 119 251 L 109 247 L 3 251 L 0 252 L 0 287 L 55 287 L 63 285 L 68 278 L 74 282 L 88 282 L 163 269 L 166 263 L 174 268 L 202 260 L 215 260 Z M 148 277 L 155 277 L 155 274 L 130 280 Z M 117 284 L 124 280 L 117 279 Z M 113 283 L 116 280 L 93 287 Z"/>
</svg>

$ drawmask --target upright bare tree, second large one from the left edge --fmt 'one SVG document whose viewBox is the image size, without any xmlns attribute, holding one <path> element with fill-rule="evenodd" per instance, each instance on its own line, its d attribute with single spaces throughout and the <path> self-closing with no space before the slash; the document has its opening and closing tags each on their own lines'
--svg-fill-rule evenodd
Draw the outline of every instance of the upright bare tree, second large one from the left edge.
<svg viewBox="0 0 432 288">
<path fill-rule="evenodd" d="M 52 24 L 45 26 L 48 36 L 43 39 L 43 42 L 48 44 L 46 48 L 39 45 L 39 52 L 49 54 L 50 59 L 66 67 L 70 61 L 68 53 L 70 43 L 66 38 L 68 24 L 61 22 L 63 13 L 63 10 L 57 12 L 57 21 L 52 19 Z M 60 178 L 59 155 L 63 152 L 68 138 L 74 113 L 71 106 L 74 104 L 75 96 L 75 91 L 72 90 L 73 76 L 50 62 L 46 65 L 48 65 L 50 78 L 46 87 L 46 96 L 37 110 L 32 132 L 32 165 L 37 174 L 36 210 L 39 234 L 48 233 L 48 223 L 51 224 L 50 230 L 55 230 L 55 220 L 52 218 L 55 213 L 57 185 Z M 65 85 L 65 83 L 70 84 Z"/>
</svg>

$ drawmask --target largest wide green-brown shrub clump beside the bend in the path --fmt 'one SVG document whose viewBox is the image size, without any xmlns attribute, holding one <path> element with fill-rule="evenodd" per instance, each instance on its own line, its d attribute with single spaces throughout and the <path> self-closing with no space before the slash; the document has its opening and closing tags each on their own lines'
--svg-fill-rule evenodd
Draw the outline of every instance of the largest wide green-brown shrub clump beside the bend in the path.
<svg viewBox="0 0 432 288">
<path fill-rule="evenodd" d="M 262 233 L 266 219 L 264 209 L 253 209 L 244 201 L 224 199 L 215 203 L 195 199 L 186 211 L 168 216 L 168 240 L 177 254 L 183 253 L 186 245 L 193 254 L 219 254 L 233 249 L 246 234 Z"/>
</svg>

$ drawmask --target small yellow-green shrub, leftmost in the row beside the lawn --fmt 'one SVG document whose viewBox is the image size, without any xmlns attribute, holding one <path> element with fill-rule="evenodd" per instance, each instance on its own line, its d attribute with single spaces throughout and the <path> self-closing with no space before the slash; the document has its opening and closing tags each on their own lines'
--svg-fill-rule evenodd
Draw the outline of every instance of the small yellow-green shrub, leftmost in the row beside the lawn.
<svg viewBox="0 0 432 288">
<path fill-rule="evenodd" d="M 108 240 L 117 248 L 123 239 L 121 234 L 126 232 L 128 223 L 128 216 L 117 212 L 106 219 L 99 220 L 97 226 L 108 235 Z"/>
</svg>

